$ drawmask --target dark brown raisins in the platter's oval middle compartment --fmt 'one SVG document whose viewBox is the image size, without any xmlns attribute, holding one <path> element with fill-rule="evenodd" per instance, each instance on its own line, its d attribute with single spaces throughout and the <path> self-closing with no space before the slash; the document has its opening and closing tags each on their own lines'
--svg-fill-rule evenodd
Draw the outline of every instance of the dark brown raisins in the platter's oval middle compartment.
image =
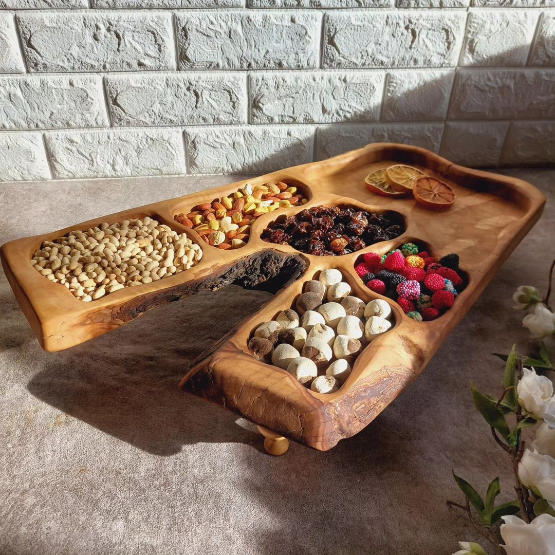
<svg viewBox="0 0 555 555">
<path fill-rule="evenodd" d="M 404 229 L 391 216 L 339 206 L 314 206 L 266 228 L 268 243 L 291 245 L 301 253 L 338 256 L 401 235 Z"/>
</svg>

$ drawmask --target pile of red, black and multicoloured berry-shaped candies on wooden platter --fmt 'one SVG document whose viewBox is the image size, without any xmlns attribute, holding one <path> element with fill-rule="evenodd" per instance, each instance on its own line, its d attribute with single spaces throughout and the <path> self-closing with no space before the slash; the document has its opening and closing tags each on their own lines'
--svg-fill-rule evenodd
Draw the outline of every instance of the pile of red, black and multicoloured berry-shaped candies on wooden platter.
<svg viewBox="0 0 555 555">
<path fill-rule="evenodd" d="M 405 243 L 384 255 L 365 253 L 355 272 L 371 291 L 397 301 L 407 316 L 421 322 L 441 316 L 465 288 L 458 263 L 455 253 L 436 261 L 418 245 Z"/>
</svg>

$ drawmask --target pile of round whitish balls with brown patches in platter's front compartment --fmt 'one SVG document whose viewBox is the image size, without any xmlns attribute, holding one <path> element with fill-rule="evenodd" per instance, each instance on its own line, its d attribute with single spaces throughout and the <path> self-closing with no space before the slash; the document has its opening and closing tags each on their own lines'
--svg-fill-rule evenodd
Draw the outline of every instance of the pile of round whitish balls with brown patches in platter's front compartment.
<svg viewBox="0 0 555 555">
<path fill-rule="evenodd" d="M 333 393 L 351 374 L 364 342 L 391 329 L 391 306 L 383 299 L 365 304 L 352 296 L 336 269 L 322 270 L 303 291 L 296 310 L 284 310 L 256 328 L 249 349 L 312 391 Z"/>
</svg>

